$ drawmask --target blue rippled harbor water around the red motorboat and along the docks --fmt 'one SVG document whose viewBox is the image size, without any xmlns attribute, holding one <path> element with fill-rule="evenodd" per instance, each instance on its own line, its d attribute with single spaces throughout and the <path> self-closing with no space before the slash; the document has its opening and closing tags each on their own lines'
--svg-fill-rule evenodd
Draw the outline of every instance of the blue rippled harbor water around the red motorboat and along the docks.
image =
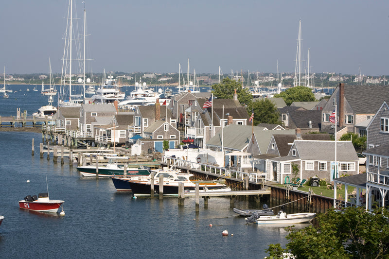
<svg viewBox="0 0 389 259">
<path fill-rule="evenodd" d="M 32 114 L 45 105 L 47 97 L 29 88 L 1 99 L 0 115 L 16 115 L 17 107 Z M 283 227 L 246 224 L 229 198 L 210 199 L 208 209 L 200 199 L 198 214 L 194 198 L 184 207 L 173 197 L 133 199 L 110 179 L 80 176 L 67 159 L 61 165 L 32 156 L 32 138 L 38 150 L 41 134 L 0 132 L 0 258 L 264 258 L 268 244 L 284 247 Z M 24 196 L 46 191 L 46 175 L 50 198 L 65 201 L 63 217 L 18 208 Z M 233 236 L 223 237 L 225 229 Z"/>
</svg>

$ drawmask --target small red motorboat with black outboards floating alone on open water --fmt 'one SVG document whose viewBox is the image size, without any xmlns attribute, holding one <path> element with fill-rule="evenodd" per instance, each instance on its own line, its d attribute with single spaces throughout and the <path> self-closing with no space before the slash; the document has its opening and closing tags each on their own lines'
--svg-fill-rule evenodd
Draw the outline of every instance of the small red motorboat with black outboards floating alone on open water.
<svg viewBox="0 0 389 259">
<path fill-rule="evenodd" d="M 19 201 L 19 207 L 38 212 L 57 213 L 63 203 L 64 201 L 61 200 L 50 200 L 49 193 L 43 192 L 39 193 L 38 196 L 27 195 L 24 200 Z"/>
</svg>

